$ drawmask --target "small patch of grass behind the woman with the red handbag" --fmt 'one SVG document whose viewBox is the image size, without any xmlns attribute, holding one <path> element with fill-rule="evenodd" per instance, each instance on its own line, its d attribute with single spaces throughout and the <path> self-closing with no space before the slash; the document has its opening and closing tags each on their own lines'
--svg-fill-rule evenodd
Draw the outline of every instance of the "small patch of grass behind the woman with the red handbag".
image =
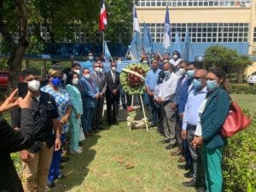
<svg viewBox="0 0 256 192">
<path fill-rule="evenodd" d="M 232 94 L 231 97 L 241 107 L 248 108 L 251 113 L 256 112 L 256 96 L 255 95 Z"/>
</svg>

